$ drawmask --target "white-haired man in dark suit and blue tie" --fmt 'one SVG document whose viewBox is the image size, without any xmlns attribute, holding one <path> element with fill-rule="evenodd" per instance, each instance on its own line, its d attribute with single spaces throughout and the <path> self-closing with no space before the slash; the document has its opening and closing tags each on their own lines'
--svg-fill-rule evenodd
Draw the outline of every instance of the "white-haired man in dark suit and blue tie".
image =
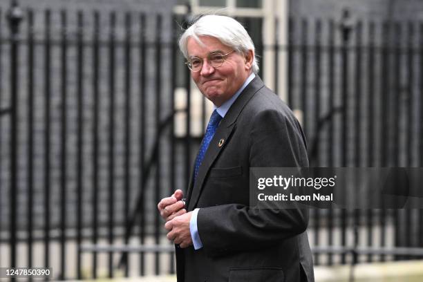
<svg viewBox="0 0 423 282">
<path fill-rule="evenodd" d="M 314 281 L 301 209 L 252 209 L 250 167 L 307 167 L 299 122 L 256 75 L 254 44 L 230 17 L 181 36 L 191 77 L 215 110 L 187 189 L 158 203 L 176 244 L 178 281 Z"/>
</svg>

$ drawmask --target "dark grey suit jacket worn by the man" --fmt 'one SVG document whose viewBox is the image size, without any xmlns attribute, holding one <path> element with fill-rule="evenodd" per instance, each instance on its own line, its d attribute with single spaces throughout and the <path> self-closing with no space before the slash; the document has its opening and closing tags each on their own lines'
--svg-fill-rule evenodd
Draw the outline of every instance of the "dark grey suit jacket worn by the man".
<svg viewBox="0 0 423 282">
<path fill-rule="evenodd" d="M 219 147 L 220 140 L 225 140 Z M 176 247 L 178 281 L 314 281 L 301 209 L 250 209 L 250 167 L 307 167 L 288 106 L 256 76 L 220 122 L 187 191 L 203 248 Z"/>
</svg>

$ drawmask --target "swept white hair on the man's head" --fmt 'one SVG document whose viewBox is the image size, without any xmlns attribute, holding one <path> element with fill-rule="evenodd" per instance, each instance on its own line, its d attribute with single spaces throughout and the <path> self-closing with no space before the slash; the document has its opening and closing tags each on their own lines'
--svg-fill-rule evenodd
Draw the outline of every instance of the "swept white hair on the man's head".
<svg viewBox="0 0 423 282">
<path fill-rule="evenodd" d="M 259 73 L 259 64 L 253 41 L 241 23 L 232 19 L 232 17 L 205 15 L 185 30 L 179 39 L 179 48 L 186 59 L 188 59 L 187 43 L 189 37 L 194 38 L 198 44 L 204 46 L 199 38 L 200 36 L 215 37 L 222 44 L 244 55 L 247 55 L 249 50 L 253 50 L 252 71 L 256 74 Z"/>
</svg>

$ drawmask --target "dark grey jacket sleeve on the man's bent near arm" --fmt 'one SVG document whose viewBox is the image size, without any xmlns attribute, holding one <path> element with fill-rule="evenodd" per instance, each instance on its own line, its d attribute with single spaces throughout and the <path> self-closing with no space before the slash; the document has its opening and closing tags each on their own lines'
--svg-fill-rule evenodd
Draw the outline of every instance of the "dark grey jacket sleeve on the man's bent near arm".
<svg viewBox="0 0 423 282">
<path fill-rule="evenodd" d="M 305 138 L 290 111 L 261 111 L 250 128 L 250 167 L 308 166 Z M 245 187 L 245 193 L 249 193 L 249 187 Z M 206 254 L 217 256 L 268 247 L 303 233 L 308 210 L 218 205 L 201 208 L 197 223 Z"/>
</svg>

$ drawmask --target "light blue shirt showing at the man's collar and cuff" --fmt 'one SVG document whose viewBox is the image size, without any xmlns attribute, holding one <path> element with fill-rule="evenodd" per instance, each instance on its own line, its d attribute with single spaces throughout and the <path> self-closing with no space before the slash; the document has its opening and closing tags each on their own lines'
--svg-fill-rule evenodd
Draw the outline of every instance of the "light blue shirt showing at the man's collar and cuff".
<svg viewBox="0 0 423 282">
<path fill-rule="evenodd" d="M 243 86 L 241 86 L 241 88 L 239 88 L 238 91 L 236 91 L 236 93 L 229 100 L 221 104 L 219 107 L 214 106 L 214 110 L 216 110 L 222 118 L 225 118 L 227 111 L 229 111 L 232 104 L 234 104 L 236 98 L 238 98 L 238 96 L 241 95 L 241 92 L 243 92 L 245 87 L 247 87 L 247 85 L 250 84 L 250 82 L 252 81 L 252 79 L 254 79 L 254 77 L 256 77 L 256 75 L 252 73 L 249 77 L 247 77 Z M 198 234 L 198 226 L 197 226 L 197 216 L 198 216 L 199 210 L 200 209 L 198 208 L 194 209 L 194 211 L 191 214 L 191 220 L 189 220 L 189 232 L 191 233 L 192 243 L 194 244 L 195 250 L 198 250 L 203 247 L 203 243 L 201 243 L 200 235 Z"/>
</svg>

